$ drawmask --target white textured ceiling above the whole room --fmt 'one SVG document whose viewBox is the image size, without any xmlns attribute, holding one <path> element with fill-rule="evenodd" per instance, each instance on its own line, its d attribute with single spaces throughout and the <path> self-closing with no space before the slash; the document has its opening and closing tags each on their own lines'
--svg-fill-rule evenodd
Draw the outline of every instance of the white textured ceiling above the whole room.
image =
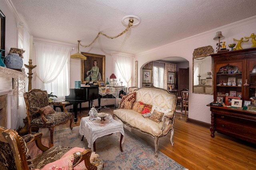
<svg viewBox="0 0 256 170">
<path fill-rule="evenodd" d="M 112 40 L 100 36 L 91 46 L 130 54 L 256 16 L 256 0 L 8 1 L 32 36 L 73 44 L 81 40 L 88 45 L 98 32 L 116 36 L 126 28 L 124 16 L 139 16 L 141 23 L 124 35 Z"/>
</svg>

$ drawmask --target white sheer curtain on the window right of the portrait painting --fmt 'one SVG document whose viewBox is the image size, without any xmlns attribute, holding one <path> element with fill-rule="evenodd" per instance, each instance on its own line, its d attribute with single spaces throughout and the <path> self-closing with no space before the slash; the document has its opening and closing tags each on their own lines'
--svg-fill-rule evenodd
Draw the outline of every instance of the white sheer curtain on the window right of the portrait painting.
<svg viewBox="0 0 256 170">
<path fill-rule="evenodd" d="M 114 58 L 114 74 L 117 81 L 123 82 L 123 86 L 131 87 L 132 79 L 132 57 L 126 57 L 122 55 L 113 55 Z"/>
</svg>

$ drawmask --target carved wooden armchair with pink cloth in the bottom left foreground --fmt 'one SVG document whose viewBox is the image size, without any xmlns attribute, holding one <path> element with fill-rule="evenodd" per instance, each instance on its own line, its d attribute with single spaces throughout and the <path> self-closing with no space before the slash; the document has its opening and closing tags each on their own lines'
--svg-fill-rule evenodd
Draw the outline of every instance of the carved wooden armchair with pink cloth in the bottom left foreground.
<svg viewBox="0 0 256 170">
<path fill-rule="evenodd" d="M 19 136 L 18 132 L 0 126 L 0 169 L 1 170 L 39 170 L 39 169 L 88 169 L 104 168 L 98 154 L 90 149 L 54 146 L 47 148 L 41 143 L 42 133 Z M 27 144 L 36 142 L 43 152 L 31 158 Z M 84 168 L 84 166 L 86 168 Z M 57 168 L 58 167 L 58 168 Z"/>
</svg>

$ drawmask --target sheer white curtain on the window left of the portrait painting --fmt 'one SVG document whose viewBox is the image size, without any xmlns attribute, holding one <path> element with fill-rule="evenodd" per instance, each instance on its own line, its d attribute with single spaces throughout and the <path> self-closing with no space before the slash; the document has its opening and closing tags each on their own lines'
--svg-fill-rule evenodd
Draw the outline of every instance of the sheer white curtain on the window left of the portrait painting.
<svg viewBox="0 0 256 170">
<path fill-rule="evenodd" d="M 70 47 L 34 42 L 36 88 L 54 93 L 58 100 L 69 93 Z"/>
</svg>

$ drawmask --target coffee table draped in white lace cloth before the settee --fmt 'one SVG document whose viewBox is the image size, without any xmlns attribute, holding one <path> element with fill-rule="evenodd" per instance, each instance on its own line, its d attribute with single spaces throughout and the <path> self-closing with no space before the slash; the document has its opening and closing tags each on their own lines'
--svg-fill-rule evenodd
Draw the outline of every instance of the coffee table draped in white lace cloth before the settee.
<svg viewBox="0 0 256 170">
<path fill-rule="evenodd" d="M 84 136 L 86 137 L 88 142 L 88 148 L 91 148 L 92 152 L 96 152 L 95 141 L 97 138 L 116 132 L 120 132 L 121 134 L 120 150 L 121 152 L 123 152 L 122 143 L 124 142 L 124 128 L 121 123 L 114 119 L 112 121 L 104 121 L 102 123 L 99 117 L 97 120 L 93 121 L 90 121 L 89 117 L 82 117 L 80 122 L 79 133 L 82 135 L 82 140 L 84 139 Z"/>
</svg>

